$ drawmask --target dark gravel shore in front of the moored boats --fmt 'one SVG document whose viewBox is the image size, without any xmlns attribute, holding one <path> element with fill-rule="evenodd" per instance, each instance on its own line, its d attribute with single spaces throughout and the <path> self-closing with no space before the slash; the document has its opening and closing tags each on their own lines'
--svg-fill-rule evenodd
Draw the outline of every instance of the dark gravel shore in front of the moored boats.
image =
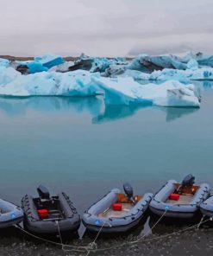
<svg viewBox="0 0 213 256">
<path fill-rule="evenodd" d="M 179 232 L 185 227 L 172 227 L 160 224 L 153 234 L 146 240 L 131 243 L 137 239 L 136 234 L 119 235 L 111 237 L 101 236 L 97 239 L 97 250 L 91 251 L 90 255 L 212 255 L 213 253 L 213 228 L 203 226 L 200 229 L 192 228 L 186 232 Z M 179 232 L 178 234 L 173 234 Z M 13 234 L 11 237 L 10 234 Z M 36 256 L 75 256 L 86 255 L 84 248 L 54 246 L 34 240 L 28 234 L 22 234 L 21 230 L 11 228 L 1 232 L 0 255 L 36 255 Z M 88 246 L 94 240 L 94 235 L 86 234 L 83 240 L 72 239 L 66 243 L 70 246 Z M 59 240 L 56 240 L 59 242 Z"/>
</svg>

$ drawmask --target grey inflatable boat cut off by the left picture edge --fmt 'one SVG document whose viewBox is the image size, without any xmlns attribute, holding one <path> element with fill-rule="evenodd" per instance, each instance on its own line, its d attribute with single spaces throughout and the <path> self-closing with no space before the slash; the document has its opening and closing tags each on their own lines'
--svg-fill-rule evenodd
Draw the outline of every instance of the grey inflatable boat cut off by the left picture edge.
<svg viewBox="0 0 213 256">
<path fill-rule="evenodd" d="M 11 227 L 23 219 L 22 208 L 0 199 L 0 228 Z"/>
</svg>

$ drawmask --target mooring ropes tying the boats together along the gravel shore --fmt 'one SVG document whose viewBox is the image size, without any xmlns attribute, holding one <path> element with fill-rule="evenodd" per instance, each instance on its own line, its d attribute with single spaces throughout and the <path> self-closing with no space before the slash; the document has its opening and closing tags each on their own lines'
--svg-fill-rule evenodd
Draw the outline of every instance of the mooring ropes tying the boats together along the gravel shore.
<svg viewBox="0 0 213 256">
<path fill-rule="evenodd" d="M 166 215 L 166 211 L 164 214 L 162 214 L 160 216 L 160 219 L 158 221 L 156 221 L 156 223 L 153 225 L 153 227 L 151 228 L 151 230 L 153 230 L 154 227 L 156 227 L 156 225 L 160 222 L 160 220 L 163 218 L 163 216 Z M 97 236 L 95 238 L 95 240 L 93 240 L 93 242 L 91 242 L 88 246 L 70 246 L 70 245 L 64 245 L 63 242 L 62 242 L 62 239 L 61 239 L 61 235 L 60 235 L 60 243 L 57 243 L 57 242 L 54 242 L 53 240 L 47 240 L 47 239 L 44 239 L 44 238 L 41 238 L 39 236 L 36 236 L 34 234 L 31 234 L 29 233 L 27 230 L 23 229 L 22 227 L 20 227 L 18 224 L 15 225 L 15 227 L 17 227 L 18 229 L 22 230 L 23 233 L 25 234 L 28 234 L 29 236 L 32 236 L 34 237 L 35 239 L 37 240 L 42 240 L 44 242 L 47 242 L 47 243 L 50 243 L 50 244 L 53 244 L 55 246 L 61 246 L 62 250 L 63 251 L 66 251 L 66 252 L 80 252 L 80 253 L 85 253 L 87 252 L 86 256 L 88 256 L 90 253 L 97 253 L 97 252 L 103 252 L 103 251 L 109 251 L 109 250 L 113 250 L 113 249 L 116 249 L 118 247 L 121 247 L 121 246 L 127 246 L 127 245 L 132 245 L 132 244 L 135 244 L 135 243 L 140 243 L 141 241 L 143 242 L 149 242 L 149 241 L 153 241 L 153 240 L 161 240 L 161 239 L 165 239 L 166 237 L 169 237 L 169 236 L 172 236 L 172 235 L 175 235 L 175 234 L 180 234 L 180 233 L 184 233 L 185 231 L 188 231 L 194 227 L 200 227 L 201 224 L 204 224 L 208 221 L 212 221 L 213 218 L 210 217 L 209 219 L 205 220 L 205 221 L 202 221 L 204 220 L 204 217 L 201 219 L 201 221 L 199 221 L 198 224 L 195 224 L 195 225 L 192 225 L 190 227 L 186 227 L 182 230 L 179 230 L 179 231 L 176 231 L 176 232 L 173 232 L 172 234 L 165 234 L 165 235 L 161 235 L 161 236 L 158 236 L 158 237 L 154 237 L 154 238 L 150 238 L 150 239 L 144 239 L 145 238 L 145 235 L 143 235 L 142 237 L 136 239 L 136 240 L 133 240 L 133 241 L 127 241 L 127 242 L 124 242 L 122 244 L 119 244 L 119 245 L 116 245 L 116 246 L 110 246 L 110 247 L 105 247 L 105 248 L 97 248 L 97 244 L 96 244 L 96 240 L 99 236 L 99 234 L 101 233 L 102 229 L 103 229 L 103 226 L 104 226 L 104 222 L 103 222 L 103 225 L 102 227 L 100 227 L 98 233 L 97 233 Z M 59 224 L 59 223 L 58 223 Z M 60 234 L 60 227 L 58 226 L 59 228 L 59 234 Z M 67 248 L 71 248 L 69 250 L 66 250 L 65 249 L 65 246 Z"/>
</svg>

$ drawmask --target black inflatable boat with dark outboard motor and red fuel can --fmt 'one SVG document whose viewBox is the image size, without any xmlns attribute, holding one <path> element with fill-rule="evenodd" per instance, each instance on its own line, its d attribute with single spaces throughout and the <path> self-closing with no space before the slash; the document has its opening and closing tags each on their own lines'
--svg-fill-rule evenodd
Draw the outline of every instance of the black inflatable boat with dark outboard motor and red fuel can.
<svg viewBox="0 0 213 256">
<path fill-rule="evenodd" d="M 24 212 L 23 226 L 36 234 L 57 234 L 74 232 L 80 225 L 80 217 L 68 195 L 62 192 L 50 196 L 49 191 L 40 186 L 39 197 L 25 195 L 22 198 Z"/>
</svg>

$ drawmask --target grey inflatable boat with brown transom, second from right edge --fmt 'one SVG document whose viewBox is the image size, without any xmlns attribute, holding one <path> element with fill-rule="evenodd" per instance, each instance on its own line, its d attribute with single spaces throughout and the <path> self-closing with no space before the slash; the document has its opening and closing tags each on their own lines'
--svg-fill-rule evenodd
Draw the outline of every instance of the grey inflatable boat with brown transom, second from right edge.
<svg viewBox="0 0 213 256">
<path fill-rule="evenodd" d="M 153 196 L 149 208 L 154 214 L 167 217 L 191 218 L 199 205 L 210 196 L 210 185 L 194 185 L 195 177 L 188 175 L 182 183 L 170 180 Z"/>
</svg>

